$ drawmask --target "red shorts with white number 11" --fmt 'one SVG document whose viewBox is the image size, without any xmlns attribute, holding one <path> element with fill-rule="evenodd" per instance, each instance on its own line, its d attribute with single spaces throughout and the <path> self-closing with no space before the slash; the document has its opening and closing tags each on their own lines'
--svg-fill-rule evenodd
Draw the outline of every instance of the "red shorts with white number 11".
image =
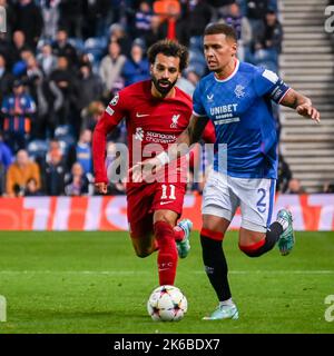
<svg viewBox="0 0 334 356">
<path fill-rule="evenodd" d="M 153 234 L 153 215 L 156 210 L 183 211 L 186 184 L 153 182 L 134 185 L 127 189 L 127 215 L 130 235 L 140 238 Z"/>
</svg>

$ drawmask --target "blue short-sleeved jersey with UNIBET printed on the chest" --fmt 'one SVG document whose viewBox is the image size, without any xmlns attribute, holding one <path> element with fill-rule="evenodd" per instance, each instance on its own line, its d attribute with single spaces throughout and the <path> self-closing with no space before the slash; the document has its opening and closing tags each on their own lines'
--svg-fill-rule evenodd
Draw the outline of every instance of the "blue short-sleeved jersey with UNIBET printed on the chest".
<svg viewBox="0 0 334 356">
<path fill-rule="evenodd" d="M 239 61 L 228 78 L 219 80 L 212 72 L 198 82 L 193 113 L 214 122 L 216 171 L 239 178 L 277 177 L 271 100 L 279 103 L 288 89 L 273 71 Z"/>
</svg>

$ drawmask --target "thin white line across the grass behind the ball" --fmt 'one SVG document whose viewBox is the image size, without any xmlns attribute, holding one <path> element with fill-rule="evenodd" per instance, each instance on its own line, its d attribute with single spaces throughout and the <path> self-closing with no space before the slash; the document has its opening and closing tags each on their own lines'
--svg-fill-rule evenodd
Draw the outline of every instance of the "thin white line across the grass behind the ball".
<svg viewBox="0 0 334 356">
<path fill-rule="evenodd" d="M 147 275 L 151 274 L 149 270 L 0 270 L 0 275 Z M 190 274 L 205 274 L 204 270 L 191 270 Z M 287 269 L 287 270 L 230 270 L 232 275 L 332 275 L 334 269 Z"/>
</svg>

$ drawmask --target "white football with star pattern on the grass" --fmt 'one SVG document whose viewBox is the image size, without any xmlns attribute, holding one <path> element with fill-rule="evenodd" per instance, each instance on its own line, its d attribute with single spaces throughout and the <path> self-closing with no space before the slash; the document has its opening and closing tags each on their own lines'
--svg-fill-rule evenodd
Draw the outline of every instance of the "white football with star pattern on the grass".
<svg viewBox="0 0 334 356">
<path fill-rule="evenodd" d="M 178 322 L 187 308 L 186 296 L 175 286 L 156 288 L 147 301 L 147 312 L 155 322 Z"/>
</svg>

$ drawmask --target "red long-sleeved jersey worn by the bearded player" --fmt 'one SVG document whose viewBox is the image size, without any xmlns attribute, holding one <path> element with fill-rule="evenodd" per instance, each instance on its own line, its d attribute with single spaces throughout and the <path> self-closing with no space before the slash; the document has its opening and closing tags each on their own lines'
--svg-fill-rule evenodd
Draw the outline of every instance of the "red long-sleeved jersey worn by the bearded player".
<svg viewBox="0 0 334 356">
<path fill-rule="evenodd" d="M 124 118 L 127 126 L 129 167 L 166 150 L 187 128 L 193 111 L 191 98 L 177 87 L 174 98 L 161 99 L 153 97 L 150 89 L 151 80 L 146 80 L 120 90 L 97 123 L 92 145 L 97 182 L 108 182 L 105 169 L 106 136 Z M 213 132 L 213 129 L 209 131 Z M 170 174 L 177 175 L 177 170 L 169 169 L 168 177 Z"/>
</svg>

